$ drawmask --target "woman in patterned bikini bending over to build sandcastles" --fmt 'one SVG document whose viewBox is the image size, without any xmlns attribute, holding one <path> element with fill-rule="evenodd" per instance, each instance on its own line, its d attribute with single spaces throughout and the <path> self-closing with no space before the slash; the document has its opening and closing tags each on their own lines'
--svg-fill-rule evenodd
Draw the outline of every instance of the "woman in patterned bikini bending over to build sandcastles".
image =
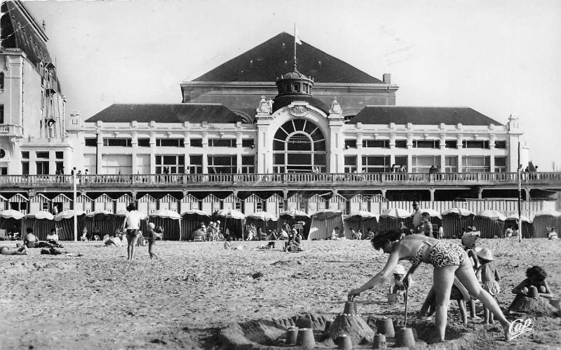
<svg viewBox="0 0 561 350">
<path fill-rule="evenodd" d="M 361 292 L 374 288 L 375 285 L 384 281 L 384 278 L 391 274 L 399 260 L 408 259 L 412 263 L 411 269 L 403 278 L 405 286 L 409 284 L 409 278 L 419 267 L 421 262 L 432 264 L 433 286 L 436 299 L 435 325 L 438 337 L 444 341 L 445 329 L 447 324 L 448 304 L 450 303 L 450 290 L 454 283 L 454 276 L 467 288 L 471 295 L 481 300 L 483 305 L 496 315 L 496 319 L 503 327 L 505 337 L 508 339 L 508 329 L 511 326 L 504 317 L 499 304 L 496 300 L 481 288 L 473 267 L 468 260 L 464 249 L 459 245 L 447 241 L 426 237 L 421 234 L 412 234 L 400 239 L 400 232 L 397 230 L 381 231 L 372 238 L 374 249 L 382 249 L 389 254 L 386 266 L 379 271 L 370 281 L 349 292 L 349 299 L 353 299 Z"/>
</svg>

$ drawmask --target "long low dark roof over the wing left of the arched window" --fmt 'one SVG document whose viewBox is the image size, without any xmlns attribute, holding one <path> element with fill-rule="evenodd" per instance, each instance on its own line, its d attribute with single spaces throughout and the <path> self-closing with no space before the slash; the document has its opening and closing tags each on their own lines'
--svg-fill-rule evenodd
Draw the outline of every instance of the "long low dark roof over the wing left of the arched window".
<svg viewBox="0 0 561 350">
<path fill-rule="evenodd" d="M 140 121 L 146 123 L 236 123 L 243 121 L 223 105 L 181 103 L 175 105 L 131 105 L 116 104 L 95 114 L 88 122 L 127 123 Z"/>
</svg>

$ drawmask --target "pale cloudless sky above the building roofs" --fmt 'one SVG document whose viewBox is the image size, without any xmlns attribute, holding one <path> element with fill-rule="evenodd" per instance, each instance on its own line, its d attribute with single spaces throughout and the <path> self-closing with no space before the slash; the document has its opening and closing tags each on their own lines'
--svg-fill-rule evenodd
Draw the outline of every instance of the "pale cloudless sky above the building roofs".
<svg viewBox="0 0 561 350">
<path fill-rule="evenodd" d="M 520 118 L 561 168 L 561 1 L 25 1 L 46 22 L 67 111 L 180 103 L 180 83 L 280 32 L 400 86 L 396 105 Z M 304 72 L 305 73 L 305 72 Z M 256 101 L 257 106 L 257 101 Z"/>
</svg>

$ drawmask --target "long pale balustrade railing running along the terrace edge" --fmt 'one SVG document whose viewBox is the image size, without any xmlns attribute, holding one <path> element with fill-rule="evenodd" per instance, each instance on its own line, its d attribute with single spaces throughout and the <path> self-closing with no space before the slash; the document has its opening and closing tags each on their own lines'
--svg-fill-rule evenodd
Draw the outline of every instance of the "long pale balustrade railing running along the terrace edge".
<svg viewBox="0 0 561 350">
<path fill-rule="evenodd" d="M 518 184 L 518 173 L 288 173 L 288 174 L 149 174 L 78 175 L 80 187 L 283 186 L 339 185 L 493 185 Z M 522 184 L 561 185 L 561 173 L 522 173 Z M 0 189 L 15 187 L 70 187 L 72 175 L 0 175 Z"/>
</svg>

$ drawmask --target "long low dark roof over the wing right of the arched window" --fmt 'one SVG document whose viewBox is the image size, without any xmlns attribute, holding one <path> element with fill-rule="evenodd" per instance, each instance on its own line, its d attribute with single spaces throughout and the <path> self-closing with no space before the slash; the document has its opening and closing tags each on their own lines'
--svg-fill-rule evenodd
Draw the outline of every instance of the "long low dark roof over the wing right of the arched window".
<svg viewBox="0 0 561 350">
<path fill-rule="evenodd" d="M 468 107 L 367 106 L 349 121 L 351 124 L 359 122 L 364 124 L 502 125 Z"/>
</svg>

